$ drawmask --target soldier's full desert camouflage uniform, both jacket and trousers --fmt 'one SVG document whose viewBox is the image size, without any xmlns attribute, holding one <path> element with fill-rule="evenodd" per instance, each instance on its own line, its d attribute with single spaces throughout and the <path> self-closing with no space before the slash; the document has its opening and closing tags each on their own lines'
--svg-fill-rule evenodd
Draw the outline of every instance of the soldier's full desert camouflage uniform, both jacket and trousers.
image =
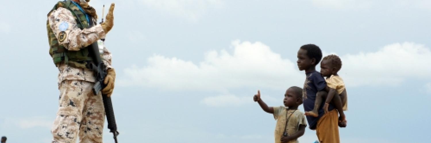
<svg viewBox="0 0 431 143">
<path fill-rule="evenodd" d="M 81 0 L 82 3 L 87 3 Z M 96 22 L 94 19 L 92 22 Z M 60 24 L 66 22 L 67 30 L 59 30 Z M 55 34 L 66 33 L 58 43 L 69 51 L 78 51 L 97 40 L 106 33 L 100 25 L 81 30 L 72 12 L 59 7 L 48 15 L 48 24 Z M 111 53 L 103 47 L 102 58 L 108 68 L 111 67 Z M 95 79 L 93 72 L 87 68 L 73 67 L 69 64 L 56 64 L 59 69 L 58 86 L 60 91 L 59 110 L 53 123 L 52 143 L 102 143 L 105 111 L 101 95 L 92 92 Z"/>
</svg>

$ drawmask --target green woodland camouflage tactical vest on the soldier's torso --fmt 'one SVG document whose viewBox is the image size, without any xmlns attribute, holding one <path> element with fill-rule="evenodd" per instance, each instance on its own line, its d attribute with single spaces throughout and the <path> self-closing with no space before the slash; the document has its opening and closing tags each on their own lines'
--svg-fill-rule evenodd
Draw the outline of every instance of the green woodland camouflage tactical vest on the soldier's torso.
<svg viewBox="0 0 431 143">
<path fill-rule="evenodd" d="M 77 26 L 84 29 L 90 27 L 87 22 L 85 14 L 76 6 L 71 0 L 59 1 L 54 8 L 48 13 L 63 7 L 72 12 L 75 17 Z M 91 17 L 89 17 L 90 22 L 92 22 Z M 88 48 L 81 48 L 79 51 L 69 51 L 63 45 L 58 43 L 58 40 L 51 29 L 49 22 L 47 21 L 47 31 L 48 31 L 48 42 L 50 44 L 50 55 L 53 58 L 54 64 L 58 67 L 59 64 L 68 64 L 71 67 L 86 68 L 86 64 L 91 62 L 92 59 L 88 55 Z"/>
</svg>

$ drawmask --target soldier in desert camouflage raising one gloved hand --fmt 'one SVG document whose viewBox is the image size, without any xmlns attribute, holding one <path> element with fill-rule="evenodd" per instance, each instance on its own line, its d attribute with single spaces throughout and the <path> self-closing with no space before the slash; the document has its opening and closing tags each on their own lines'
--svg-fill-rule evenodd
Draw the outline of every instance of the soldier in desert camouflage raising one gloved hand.
<svg viewBox="0 0 431 143">
<path fill-rule="evenodd" d="M 95 95 L 93 72 L 87 68 L 92 62 L 88 47 L 105 37 L 113 26 L 114 3 L 106 21 L 96 25 L 97 15 L 90 0 L 59 1 L 48 13 L 47 31 L 50 55 L 59 69 L 59 110 L 53 123 L 52 143 L 102 143 L 105 111 L 102 96 Z M 94 26 L 92 26 L 94 25 Z M 100 54 L 107 67 L 102 93 L 111 96 L 115 71 L 111 66 L 111 53 L 105 46 Z"/>
</svg>

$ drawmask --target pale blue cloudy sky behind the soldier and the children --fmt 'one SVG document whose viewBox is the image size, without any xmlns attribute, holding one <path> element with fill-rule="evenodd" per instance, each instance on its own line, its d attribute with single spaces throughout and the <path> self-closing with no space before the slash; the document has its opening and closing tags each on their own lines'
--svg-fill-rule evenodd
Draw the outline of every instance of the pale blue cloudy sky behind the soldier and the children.
<svg viewBox="0 0 431 143">
<path fill-rule="evenodd" d="M 0 5 L 0 136 L 49 143 L 58 70 L 47 13 L 55 0 Z M 303 86 L 304 44 L 339 55 L 347 86 L 343 143 L 431 140 L 429 0 L 91 0 L 116 3 L 107 34 L 119 142 L 270 143 L 281 106 Z M 106 13 L 106 12 L 105 12 Z M 100 19 L 99 19 L 100 20 Z M 319 68 L 317 69 L 319 70 Z M 302 112 L 303 106 L 299 108 Z M 106 125 L 106 124 L 105 124 Z M 105 143 L 113 143 L 105 128 Z M 306 129 L 301 143 L 317 140 Z"/>
</svg>

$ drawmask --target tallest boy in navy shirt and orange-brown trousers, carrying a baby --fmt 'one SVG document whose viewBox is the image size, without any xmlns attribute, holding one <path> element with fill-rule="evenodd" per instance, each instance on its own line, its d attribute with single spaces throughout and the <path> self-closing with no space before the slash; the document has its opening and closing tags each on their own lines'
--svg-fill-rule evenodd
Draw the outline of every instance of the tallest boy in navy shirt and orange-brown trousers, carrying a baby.
<svg viewBox="0 0 431 143">
<path fill-rule="evenodd" d="M 305 70 L 306 73 L 303 88 L 304 111 L 311 111 L 314 108 L 317 92 L 324 91 L 326 87 L 325 79 L 315 69 L 322 59 L 322 51 L 314 44 L 307 44 L 300 47 L 297 57 L 299 70 Z M 320 143 L 340 143 L 337 110 L 334 110 L 334 105 L 329 103 L 329 112 L 325 114 L 322 108 L 324 104 L 320 105 L 318 117 L 306 116 L 310 129 L 316 130 Z"/>
</svg>

